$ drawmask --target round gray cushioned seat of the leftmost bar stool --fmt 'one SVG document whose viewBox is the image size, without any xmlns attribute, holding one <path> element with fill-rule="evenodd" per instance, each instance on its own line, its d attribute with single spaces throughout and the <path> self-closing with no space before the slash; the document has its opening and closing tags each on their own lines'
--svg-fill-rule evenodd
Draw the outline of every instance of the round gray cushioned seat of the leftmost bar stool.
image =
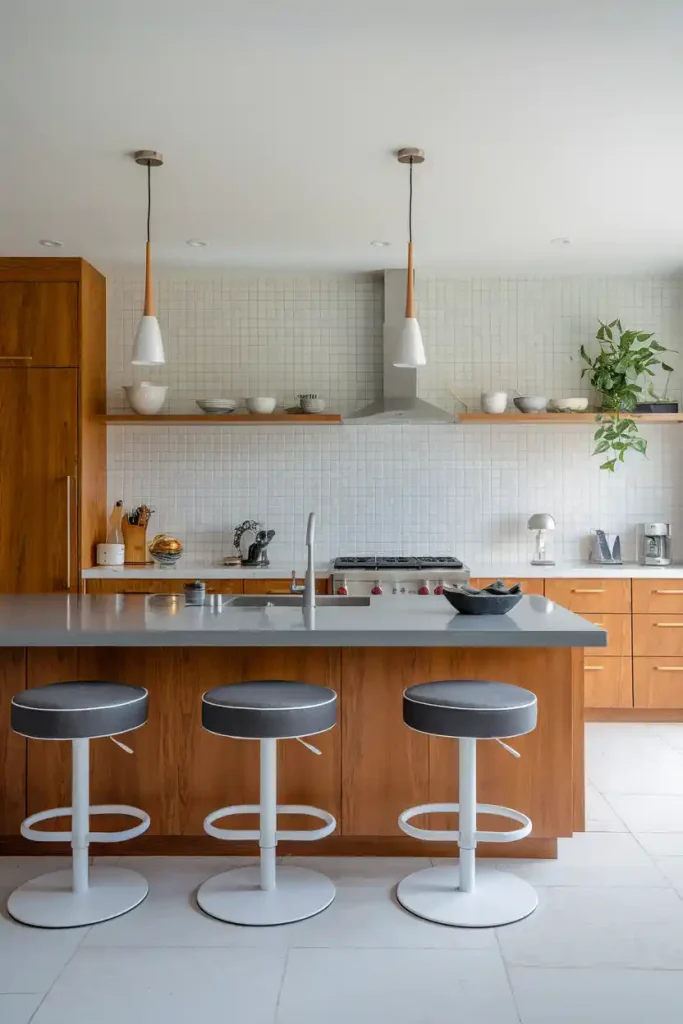
<svg viewBox="0 0 683 1024">
<path fill-rule="evenodd" d="M 49 683 L 12 697 L 11 726 L 33 739 L 96 739 L 147 720 L 147 691 L 125 683 Z"/>
</svg>

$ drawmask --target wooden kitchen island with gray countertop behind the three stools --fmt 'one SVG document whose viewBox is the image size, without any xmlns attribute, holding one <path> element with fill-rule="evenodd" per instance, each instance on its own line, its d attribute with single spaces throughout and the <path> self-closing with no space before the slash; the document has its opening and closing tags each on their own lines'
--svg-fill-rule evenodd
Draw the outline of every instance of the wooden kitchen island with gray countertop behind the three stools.
<svg viewBox="0 0 683 1024">
<path fill-rule="evenodd" d="M 258 750 L 204 731 L 200 703 L 207 689 L 259 678 L 339 694 L 338 727 L 315 739 L 322 758 L 280 743 L 279 794 L 282 803 L 330 811 L 337 831 L 313 846 L 283 843 L 283 853 L 425 855 L 396 819 L 416 804 L 457 799 L 457 743 L 408 729 L 401 693 L 447 678 L 514 683 L 539 697 L 538 728 L 512 744 L 521 759 L 482 742 L 478 764 L 479 799 L 528 814 L 533 830 L 512 848 L 485 844 L 480 852 L 554 856 L 558 837 L 583 829 L 583 648 L 604 646 L 604 630 L 537 596 L 508 615 L 481 617 L 458 615 L 436 597 L 327 604 L 314 613 L 241 600 L 188 607 L 164 595 L 0 597 L 0 853 L 63 852 L 18 830 L 27 813 L 69 806 L 70 744 L 27 743 L 9 729 L 9 701 L 26 687 L 69 679 L 150 690 L 148 722 L 128 737 L 134 755 L 109 739 L 92 743 L 92 802 L 133 804 L 152 817 L 122 854 L 254 852 L 204 834 L 209 811 L 258 802 Z M 432 826 L 455 827 L 437 818 Z M 302 826 L 286 817 L 280 825 Z M 453 848 L 430 843 L 427 852 Z"/>
</svg>

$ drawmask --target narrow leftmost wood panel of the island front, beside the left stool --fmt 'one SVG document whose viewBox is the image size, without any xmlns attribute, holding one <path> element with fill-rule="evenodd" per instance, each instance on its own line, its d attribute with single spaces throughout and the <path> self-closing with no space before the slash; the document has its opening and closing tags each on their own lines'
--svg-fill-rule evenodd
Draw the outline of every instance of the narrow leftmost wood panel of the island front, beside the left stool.
<svg viewBox="0 0 683 1024">
<path fill-rule="evenodd" d="M 0 836 L 16 834 L 26 815 L 26 739 L 9 726 L 10 700 L 26 689 L 26 651 L 0 649 Z"/>
</svg>

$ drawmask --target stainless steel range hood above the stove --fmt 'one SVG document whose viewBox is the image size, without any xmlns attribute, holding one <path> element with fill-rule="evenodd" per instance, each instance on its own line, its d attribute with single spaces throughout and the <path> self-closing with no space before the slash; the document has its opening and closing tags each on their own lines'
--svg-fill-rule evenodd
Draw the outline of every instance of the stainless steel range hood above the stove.
<svg viewBox="0 0 683 1024">
<path fill-rule="evenodd" d="M 376 398 L 356 413 L 344 417 L 345 423 L 455 423 L 457 417 L 438 406 L 418 397 L 418 371 L 399 370 L 393 353 L 403 326 L 405 271 L 384 271 L 384 386 Z"/>
</svg>

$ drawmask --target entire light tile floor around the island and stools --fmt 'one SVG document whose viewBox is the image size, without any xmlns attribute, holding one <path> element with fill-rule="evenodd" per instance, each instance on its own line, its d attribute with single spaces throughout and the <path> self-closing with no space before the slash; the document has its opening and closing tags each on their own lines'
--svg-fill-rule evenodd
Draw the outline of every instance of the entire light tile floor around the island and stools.
<svg viewBox="0 0 683 1024">
<path fill-rule="evenodd" d="M 150 896 L 117 921 L 46 932 L 3 912 L 0 1022 L 680 1024 L 683 724 L 589 725 L 587 775 L 589 831 L 557 861 L 504 865 L 539 891 L 517 925 L 407 914 L 394 887 L 426 858 L 307 858 L 338 886 L 329 910 L 233 928 L 194 904 L 224 859 L 139 858 Z M 3 903 L 55 862 L 0 860 Z"/>
</svg>

